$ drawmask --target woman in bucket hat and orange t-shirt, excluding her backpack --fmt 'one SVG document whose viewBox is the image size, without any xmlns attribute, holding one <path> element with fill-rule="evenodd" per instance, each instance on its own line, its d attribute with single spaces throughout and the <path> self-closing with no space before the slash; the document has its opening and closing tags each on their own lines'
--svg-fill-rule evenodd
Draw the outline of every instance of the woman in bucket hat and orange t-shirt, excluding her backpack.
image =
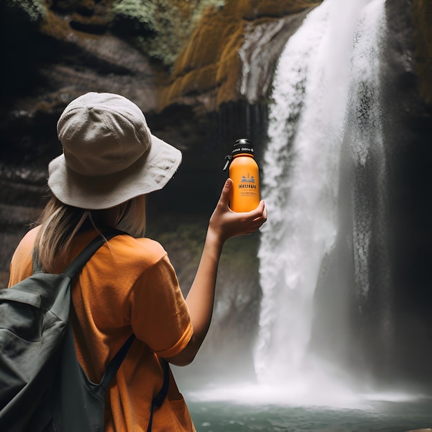
<svg viewBox="0 0 432 432">
<path fill-rule="evenodd" d="M 32 273 L 33 249 L 46 271 L 61 273 L 106 228 L 128 233 L 104 244 L 75 277 L 71 320 L 79 362 L 93 381 L 135 333 L 106 393 L 105 429 L 146 431 L 163 380 L 158 356 L 179 366 L 192 362 L 210 325 L 222 246 L 262 226 L 266 208 L 261 202 L 249 213 L 232 212 L 226 181 L 185 301 L 166 251 L 144 238 L 144 197 L 174 175 L 179 150 L 151 135 L 135 104 L 110 93 L 72 101 L 57 132 L 63 154 L 48 167 L 53 197 L 12 257 L 10 286 Z M 153 430 L 195 430 L 172 375 Z"/>
</svg>

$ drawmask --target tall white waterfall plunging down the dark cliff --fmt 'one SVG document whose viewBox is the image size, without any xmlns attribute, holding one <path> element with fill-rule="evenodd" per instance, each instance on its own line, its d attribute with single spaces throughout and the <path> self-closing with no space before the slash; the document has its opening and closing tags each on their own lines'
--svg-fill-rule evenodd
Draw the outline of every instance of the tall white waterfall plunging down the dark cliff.
<svg viewBox="0 0 432 432">
<path fill-rule="evenodd" d="M 377 154 L 385 170 L 379 55 L 384 35 L 384 0 L 324 0 L 288 40 L 275 72 L 262 166 L 269 217 L 259 249 L 263 297 L 255 371 L 259 383 L 290 386 L 297 397 L 311 390 L 311 381 L 316 389 L 323 375 L 308 346 L 320 268 L 338 235 L 341 154 L 349 153 L 360 168 Z M 359 196 L 350 206 L 358 210 L 351 236 L 361 308 L 372 239 L 371 218 L 362 207 L 371 203 Z M 377 197 L 375 204 L 384 207 L 384 193 Z M 320 334 L 325 345 L 326 328 Z"/>
</svg>

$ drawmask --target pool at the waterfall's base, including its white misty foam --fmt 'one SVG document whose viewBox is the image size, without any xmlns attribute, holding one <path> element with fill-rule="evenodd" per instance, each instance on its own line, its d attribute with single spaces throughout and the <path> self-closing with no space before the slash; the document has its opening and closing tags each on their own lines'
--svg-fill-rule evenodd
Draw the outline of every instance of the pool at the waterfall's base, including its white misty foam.
<svg viewBox="0 0 432 432">
<path fill-rule="evenodd" d="M 292 399 L 280 404 L 257 403 L 259 395 L 256 393 L 252 397 L 251 391 L 242 394 L 227 388 L 192 391 L 184 395 L 198 432 L 432 431 L 429 429 L 432 428 L 431 397 L 362 395 L 356 400 L 347 397 L 344 404 L 343 397 L 335 399 L 328 395 L 333 406 L 326 406 L 306 405 L 304 401 L 295 404 Z M 271 400 L 266 390 L 262 396 L 263 400 Z"/>
</svg>

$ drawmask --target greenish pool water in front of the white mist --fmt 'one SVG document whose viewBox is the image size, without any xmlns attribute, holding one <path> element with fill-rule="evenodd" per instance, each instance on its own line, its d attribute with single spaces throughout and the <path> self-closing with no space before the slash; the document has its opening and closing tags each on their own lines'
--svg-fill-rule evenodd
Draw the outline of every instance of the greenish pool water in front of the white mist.
<svg viewBox="0 0 432 432">
<path fill-rule="evenodd" d="M 197 401 L 189 402 L 188 406 L 198 432 L 404 432 L 432 426 L 431 401 L 375 402 L 369 409 Z"/>
</svg>

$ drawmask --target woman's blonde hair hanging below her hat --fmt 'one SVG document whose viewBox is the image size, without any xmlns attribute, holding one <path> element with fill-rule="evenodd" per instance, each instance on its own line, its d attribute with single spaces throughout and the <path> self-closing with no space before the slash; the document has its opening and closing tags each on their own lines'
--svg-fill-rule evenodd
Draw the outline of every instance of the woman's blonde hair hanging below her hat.
<svg viewBox="0 0 432 432">
<path fill-rule="evenodd" d="M 133 237 L 144 237 L 146 196 L 139 195 L 105 210 L 68 206 L 52 196 L 35 225 L 40 226 L 35 251 L 39 255 L 41 266 L 50 273 L 56 273 L 58 269 L 55 262 L 66 256 L 72 239 L 81 230 L 94 228 L 104 237 L 104 228 L 114 226 Z"/>
</svg>

